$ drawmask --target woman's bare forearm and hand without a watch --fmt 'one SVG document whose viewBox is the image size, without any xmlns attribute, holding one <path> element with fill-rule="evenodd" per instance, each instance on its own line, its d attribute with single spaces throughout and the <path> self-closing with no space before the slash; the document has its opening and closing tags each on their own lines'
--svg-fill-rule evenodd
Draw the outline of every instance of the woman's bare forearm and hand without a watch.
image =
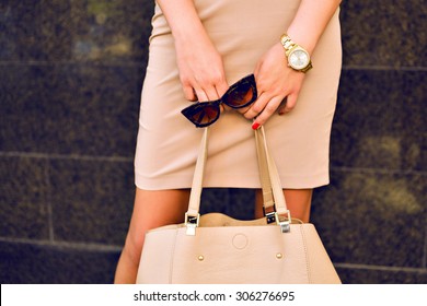
<svg viewBox="0 0 427 306">
<path fill-rule="evenodd" d="M 220 98 L 229 87 L 222 58 L 206 33 L 194 1 L 157 2 L 175 40 L 176 61 L 185 97 L 200 102 Z"/>
</svg>

